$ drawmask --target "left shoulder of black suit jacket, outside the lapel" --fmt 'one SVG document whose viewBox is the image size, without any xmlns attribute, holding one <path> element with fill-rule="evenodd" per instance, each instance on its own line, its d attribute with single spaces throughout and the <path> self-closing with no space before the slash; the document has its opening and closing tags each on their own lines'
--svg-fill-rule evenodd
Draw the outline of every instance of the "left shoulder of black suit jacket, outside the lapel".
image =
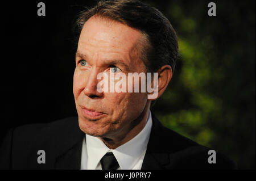
<svg viewBox="0 0 256 181">
<path fill-rule="evenodd" d="M 46 124 L 28 124 L 11 129 L 0 148 L 3 169 L 35 169 L 38 151 L 47 155 L 48 169 L 52 169 L 57 155 L 68 149 L 82 135 L 77 117 Z"/>
</svg>

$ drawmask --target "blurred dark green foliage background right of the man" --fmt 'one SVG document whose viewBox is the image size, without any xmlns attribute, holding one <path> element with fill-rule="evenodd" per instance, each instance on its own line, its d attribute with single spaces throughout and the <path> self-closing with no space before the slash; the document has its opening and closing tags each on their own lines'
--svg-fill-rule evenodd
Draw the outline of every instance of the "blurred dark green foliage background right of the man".
<svg viewBox="0 0 256 181">
<path fill-rule="evenodd" d="M 166 127 L 255 169 L 255 1 L 144 1 L 179 37 L 180 58 L 152 108 Z"/>
</svg>

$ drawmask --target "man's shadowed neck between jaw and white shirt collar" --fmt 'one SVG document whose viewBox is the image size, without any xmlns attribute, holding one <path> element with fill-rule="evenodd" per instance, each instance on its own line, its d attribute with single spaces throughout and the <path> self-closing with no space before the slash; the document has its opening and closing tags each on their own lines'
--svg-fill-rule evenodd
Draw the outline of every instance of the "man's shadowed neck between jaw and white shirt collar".
<svg viewBox="0 0 256 181">
<path fill-rule="evenodd" d="M 130 141 L 132 138 L 137 136 L 137 134 L 139 134 L 139 132 L 141 132 L 142 129 L 145 127 L 145 125 L 147 124 L 147 117 L 148 117 L 149 110 L 150 110 L 150 103 L 147 103 L 141 115 L 139 115 L 137 119 L 132 121 L 129 127 L 127 127 L 125 130 L 123 129 L 121 131 L 121 134 L 118 134 L 118 136 L 108 137 L 108 138 L 100 137 L 100 139 L 110 149 L 115 149 L 118 146 L 125 144 L 126 142 Z"/>
</svg>

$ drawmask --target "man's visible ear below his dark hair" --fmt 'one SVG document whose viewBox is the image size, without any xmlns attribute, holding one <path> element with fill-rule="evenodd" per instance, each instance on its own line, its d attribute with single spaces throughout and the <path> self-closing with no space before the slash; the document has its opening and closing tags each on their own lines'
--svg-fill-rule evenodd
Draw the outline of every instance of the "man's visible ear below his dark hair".
<svg viewBox="0 0 256 181">
<path fill-rule="evenodd" d="M 158 99 L 166 90 L 168 83 L 171 81 L 172 78 L 172 68 L 170 65 L 164 65 L 158 70 L 158 96 L 154 99 L 149 100 L 156 100 Z"/>
</svg>

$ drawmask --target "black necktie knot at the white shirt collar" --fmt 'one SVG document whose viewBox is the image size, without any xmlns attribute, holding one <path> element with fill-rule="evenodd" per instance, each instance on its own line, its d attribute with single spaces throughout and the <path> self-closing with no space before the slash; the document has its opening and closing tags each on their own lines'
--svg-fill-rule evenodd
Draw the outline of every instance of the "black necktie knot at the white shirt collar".
<svg viewBox="0 0 256 181">
<path fill-rule="evenodd" d="M 117 159 L 112 152 L 108 152 L 101 158 L 102 170 L 117 170 L 119 167 Z"/>
</svg>

